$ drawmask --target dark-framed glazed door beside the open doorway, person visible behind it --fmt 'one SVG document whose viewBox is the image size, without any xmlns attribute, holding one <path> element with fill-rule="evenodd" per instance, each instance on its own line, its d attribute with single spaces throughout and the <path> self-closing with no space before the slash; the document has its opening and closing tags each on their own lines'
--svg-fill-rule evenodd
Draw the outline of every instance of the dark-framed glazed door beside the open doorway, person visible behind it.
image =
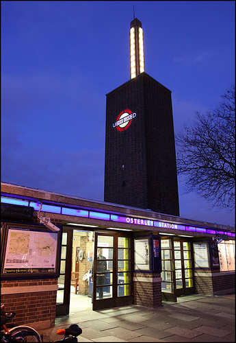
<svg viewBox="0 0 236 343">
<path fill-rule="evenodd" d="M 92 265 L 92 309 L 133 303 L 131 237 L 96 233 Z"/>
</svg>

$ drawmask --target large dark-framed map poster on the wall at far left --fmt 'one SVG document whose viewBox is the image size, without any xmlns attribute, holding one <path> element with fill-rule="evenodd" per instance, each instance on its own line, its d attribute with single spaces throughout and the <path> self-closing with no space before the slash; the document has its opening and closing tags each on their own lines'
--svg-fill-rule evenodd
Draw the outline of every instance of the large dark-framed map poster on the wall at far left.
<svg viewBox="0 0 236 343">
<path fill-rule="evenodd" d="M 62 229 L 10 223 L 2 229 L 1 279 L 59 277 Z"/>
</svg>

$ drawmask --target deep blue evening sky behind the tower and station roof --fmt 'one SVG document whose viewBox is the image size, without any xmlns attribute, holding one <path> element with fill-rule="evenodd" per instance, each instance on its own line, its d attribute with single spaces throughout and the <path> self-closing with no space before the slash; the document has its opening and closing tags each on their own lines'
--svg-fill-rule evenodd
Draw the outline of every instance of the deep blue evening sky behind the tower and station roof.
<svg viewBox="0 0 236 343">
<path fill-rule="evenodd" d="M 105 95 L 129 80 L 133 5 L 175 133 L 235 83 L 235 1 L 1 1 L 1 181 L 103 201 Z M 179 201 L 234 225 L 181 180 Z"/>
</svg>

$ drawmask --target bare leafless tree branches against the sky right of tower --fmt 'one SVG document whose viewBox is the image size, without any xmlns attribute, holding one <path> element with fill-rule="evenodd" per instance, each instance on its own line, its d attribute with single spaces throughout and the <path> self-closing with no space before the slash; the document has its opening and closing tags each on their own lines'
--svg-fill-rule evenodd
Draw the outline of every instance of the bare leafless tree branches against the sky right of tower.
<svg viewBox="0 0 236 343">
<path fill-rule="evenodd" d="M 235 86 L 206 115 L 176 135 L 177 171 L 185 191 L 196 191 L 219 209 L 235 208 Z"/>
</svg>

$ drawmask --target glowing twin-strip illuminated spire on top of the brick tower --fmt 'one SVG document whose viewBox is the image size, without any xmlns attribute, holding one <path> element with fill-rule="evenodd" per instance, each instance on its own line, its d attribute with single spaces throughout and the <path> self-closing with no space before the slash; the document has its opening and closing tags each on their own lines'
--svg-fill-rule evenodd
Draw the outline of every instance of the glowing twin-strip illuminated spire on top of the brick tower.
<svg viewBox="0 0 236 343">
<path fill-rule="evenodd" d="M 142 23 L 137 18 L 130 23 L 129 51 L 130 51 L 130 78 L 133 79 L 144 69 L 144 35 Z"/>
</svg>

